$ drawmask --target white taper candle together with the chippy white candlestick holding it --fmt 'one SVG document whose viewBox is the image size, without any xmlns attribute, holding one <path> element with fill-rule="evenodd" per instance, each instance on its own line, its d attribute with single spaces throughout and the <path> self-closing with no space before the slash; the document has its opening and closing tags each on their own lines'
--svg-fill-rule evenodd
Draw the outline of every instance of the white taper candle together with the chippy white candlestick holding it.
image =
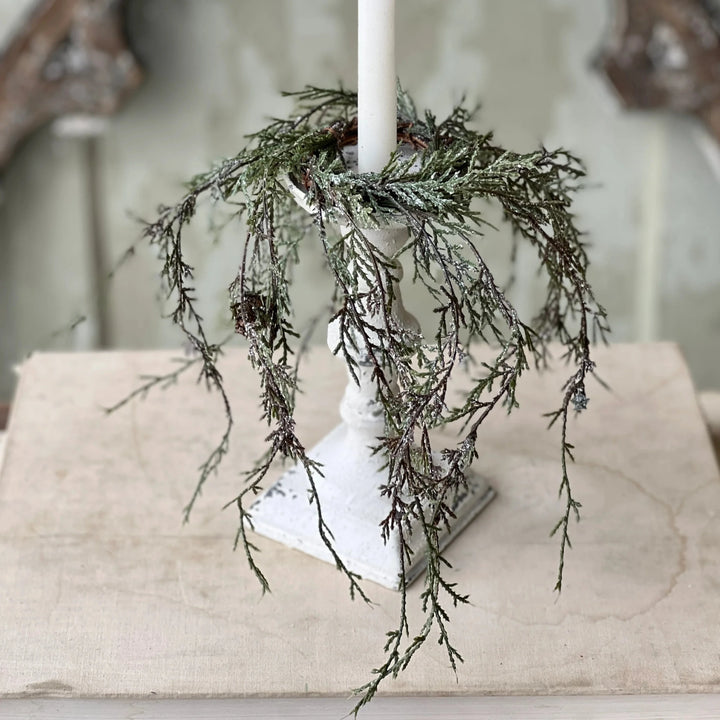
<svg viewBox="0 0 720 720">
<path fill-rule="evenodd" d="M 380 172 L 397 146 L 395 0 L 358 0 L 358 47 L 358 169 L 361 173 Z M 292 182 L 288 189 L 306 207 L 304 196 Z M 349 228 L 341 231 L 345 234 Z M 365 229 L 363 234 L 389 259 L 408 238 L 406 227 L 392 224 Z M 417 321 L 402 304 L 402 268 L 397 261 L 393 275 L 388 279 L 394 286 L 392 312 L 399 323 L 419 333 Z M 370 289 L 362 278 L 358 278 L 358 286 L 361 291 Z M 387 328 L 384 313 L 371 309 L 365 312 L 370 332 L 373 327 Z M 339 341 L 336 320 L 328 327 L 330 349 L 334 351 Z M 354 352 L 357 382 L 355 376 L 348 379 L 340 405 L 344 422 L 310 450 L 310 456 L 323 466 L 322 477 L 316 480 L 317 494 L 324 521 L 333 534 L 335 551 L 345 566 L 398 590 L 401 573 L 410 582 L 424 567 L 424 535 L 419 523 L 415 532 L 405 530 L 405 540 L 415 551 L 408 559 L 397 529 L 390 533 L 387 543 L 380 532 L 381 523 L 391 511 L 390 499 L 379 490 L 387 484 L 388 468 L 382 454 L 371 448 L 385 431 L 385 415 L 377 399 L 373 365 L 362 343 Z M 484 478 L 469 476 L 467 481 L 467 492 L 452 501 L 455 521 L 440 540 L 443 547 L 494 497 Z M 256 532 L 335 563 L 319 537 L 316 512 L 315 506 L 307 502 L 307 473 L 302 466 L 288 470 L 251 507 Z"/>
</svg>

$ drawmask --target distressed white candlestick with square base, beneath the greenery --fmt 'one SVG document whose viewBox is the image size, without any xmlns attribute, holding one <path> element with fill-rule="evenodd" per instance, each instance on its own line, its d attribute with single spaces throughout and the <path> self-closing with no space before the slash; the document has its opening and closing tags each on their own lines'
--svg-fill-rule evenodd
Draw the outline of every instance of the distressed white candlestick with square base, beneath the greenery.
<svg viewBox="0 0 720 720">
<path fill-rule="evenodd" d="M 303 193 L 290 181 L 288 189 L 301 207 L 313 212 Z M 389 226 L 382 230 L 366 230 L 365 235 L 386 257 L 393 257 L 406 242 L 408 230 Z M 419 330 L 416 319 L 405 310 L 402 302 L 399 263 L 393 274 L 393 312 L 403 326 Z M 360 288 L 363 289 L 367 288 Z M 383 321 L 373 317 L 372 322 L 379 327 Z M 339 329 L 331 323 L 328 327 L 331 350 L 338 346 L 338 340 Z M 384 414 L 376 399 L 372 366 L 361 355 L 355 359 L 359 383 L 348 373 L 348 385 L 340 403 L 343 422 L 308 454 L 322 464 L 322 477 L 317 476 L 315 482 L 323 519 L 332 532 L 338 556 L 349 570 L 362 578 L 398 590 L 403 572 L 406 581 L 411 582 L 424 569 L 425 537 L 418 523 L 409 537 L 414 552 L 404 565 L 398 532 L 391 532 L 387 542 L 383 540 L 380 524 L 390 512 L 390 499 L 381 496 L 379 488 L 387 483 L 388 470 L 384 456 L 373 453 L 371 448 L 385 433 Z M 467 490 L 458 493 L 450 503 L 455 520 L 450 531 L 446 530 L 442 535 L 441 547 L 450 543 L 495 496 L 481 476 L 469 473 L 467 481 Z M 308 502 L 308 489 L 303 467 L 286 472 L 251 506 L 253 527 L 261 535 L 334 564 L 320 537 L 317 508 Z"/>
</svg>

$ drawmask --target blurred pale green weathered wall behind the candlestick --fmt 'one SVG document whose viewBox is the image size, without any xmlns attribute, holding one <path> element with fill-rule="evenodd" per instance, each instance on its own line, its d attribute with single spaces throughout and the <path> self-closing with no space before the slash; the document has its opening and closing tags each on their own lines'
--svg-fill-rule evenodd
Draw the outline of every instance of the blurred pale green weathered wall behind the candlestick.
<svg viewBox="0 0 720 720">
<path fill-rule="evenodd" d="M 578 222 L 588 232 L 590 278 L 607 308 L 611 339 L 675 341 L 697 386 L 720 388 L 720 144 L 707 116 L 687 112 L 682 102 L 674 109 L 672 103 L 623 108 L 598 59 L 604 49 L 627 52 L 616 23 L 628 2 L 640 5 L 397 0 L 398 74 L 418 106 L 439 116 L 463 94 L 479 101 L 478 127 L 493 129 L 514 150 L 544 143 L 582 157 L 589 180 L 578 197 Z M 710 52 L 717 45 L 716 8 L 697 2 L 707 10 L 708 25 L 698 33 Z M 11 48 L 23 33 L 27 47 L 50 42 L 48 28 L 61 19 L 38 19 L 31 13 L 36 6 L 0 0 L 2 45 Z M 151 218 L 158 204 L 179 199 L 185 180 L 234 155 L 269 116 L 290 112 L 281 90 L 356 85 L 354 0 L 126 0 L 120 6 L 129 44 L 117 54 L 127 81 L 123 102 L 105 107 L 102 121 L 42 124 L 0 168 L 0 403 L 11 397 L 13 364 L 35 349 L 180 347 L 182 338 L 162 317 L 151 252 L 138 252 L 112 280 L 106 277 L 139 235 L 132 215 Z M 678 79 L 692 69 L 695 55 L 684 46 L 692 38 L 667 19 L 653 23 L 646 22 L 647 47 L 639 36 L 630 38 L 633 52 L 650 59 L 654 53 Z M 92 33 L 73 32 L 52 40 L 60 50 L 51 60 L 82 65 Z M 56 72 L 49 62 L 35 70 L 44 81 Z M 0 88 L 13 73 L 33 72 L 21 54 L 7 50 L 0 63 Z M 720 72 L 717 63 L 710 67 Z M 47 86 L 37 87 L 47 100 Z M 20 124 L 27 117 L 21 105 L 38 102 L 11 100 L 14 105 L 6 93 L 5 118 Z M 231 227 L 220 245 L 204 230 L 201 219 L 188 242 L 204 315 L 222 336 L 231 327 L 227 285 L 242 229 Z M 322 259 L 309 242 L 296 275 L 301 317 L 329 298 Z M 504 277 L 507 235 L 489 235 L 484 247 Z M 521 313 L 532 314 L 538 291 L 532 253 L 521 251 L 512 293 Z M 427 303 L 412 289 L 406 304 L 426 317 Z M 79 316 L 88 319 L 71 329 Z"/>
</svg>

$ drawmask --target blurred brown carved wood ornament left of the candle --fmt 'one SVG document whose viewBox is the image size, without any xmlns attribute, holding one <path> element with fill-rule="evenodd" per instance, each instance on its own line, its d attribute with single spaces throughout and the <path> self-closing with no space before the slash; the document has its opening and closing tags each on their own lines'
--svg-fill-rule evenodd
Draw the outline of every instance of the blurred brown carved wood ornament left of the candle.
<svg viewBox="0 0 720 720">
<path fill-rule="evenodd" d="M 122 0 L 40 0 L 0 56 L 0 168 L 49 120 L 111 115 L 142 81 Z"/>
</svg>

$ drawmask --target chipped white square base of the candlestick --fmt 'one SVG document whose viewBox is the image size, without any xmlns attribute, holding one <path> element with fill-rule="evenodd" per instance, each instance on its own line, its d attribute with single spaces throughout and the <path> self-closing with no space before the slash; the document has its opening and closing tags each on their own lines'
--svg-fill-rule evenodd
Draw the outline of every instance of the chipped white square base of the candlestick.
<svg viewBox="0 0 720 720">
<path fill-rule="evenodd" d="M 321 440 L 309 456 L 322 464 L 323 476 L 315 483 L 323 519 L 332 533 L 333 547 L 345 566 L 366 580 L 398 590 L 402 573 L 400 539 L 383 541 L 380 523 L 387 517 L 390 501 L 378 488 L 387 482 L 380 454 L 373 455 L 362 439 L 341 424 Z M 250 508 L 257 533 L 291 548 L 335 564 L 320 537 L 318 513 L 309 502 L 310 484 L 302 467 L 286 472 Z M 455 520 L 441 538 L 446 547 L 495 497 L 487 481 L 468 475 L 467 492 L 452 503 Z M 414 550 L 405 577 L 412 582 L 425 568 L 425 539 L 418 525 L 411 536 Z"/>
</svg>

